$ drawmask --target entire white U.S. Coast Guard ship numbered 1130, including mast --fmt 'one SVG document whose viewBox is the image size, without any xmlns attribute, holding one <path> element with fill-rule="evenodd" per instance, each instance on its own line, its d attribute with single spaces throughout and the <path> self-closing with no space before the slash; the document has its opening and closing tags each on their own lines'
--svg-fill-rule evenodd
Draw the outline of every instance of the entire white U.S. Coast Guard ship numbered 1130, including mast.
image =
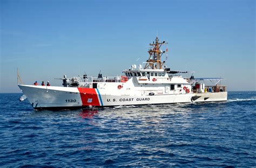
<svg viewBox="0 0 256 168">
<path fill-rule="evenodd" d="M 18 83 L 35 110 L 82 109 L 90 107 L 139 106 L 148 104 L 198 103 L 227 101 L 223 78 L 184 78 L 186 71 L 173 71 L 162 57 L 168 43 L 158 37 L 150 43 L 149 58 L 142 65 L 132 65 L 120 76 L 75 76 L 62 80 L 62 86 L 35 86 Z M 19 75 L 18 75 L 19 78 Z M 20 78 L 19 78 L 20 79 Z M 205 80 L 217 80 L 206 85 Z"/>
</svg>

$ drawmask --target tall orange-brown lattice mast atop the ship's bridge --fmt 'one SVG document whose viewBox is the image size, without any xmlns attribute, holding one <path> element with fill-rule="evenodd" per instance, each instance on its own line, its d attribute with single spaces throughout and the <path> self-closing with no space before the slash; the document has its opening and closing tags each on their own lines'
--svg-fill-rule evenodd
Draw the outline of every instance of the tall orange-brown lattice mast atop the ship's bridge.
<svg viewBox="0 0 256 168">
<path fill-rule="evenodd" d="M 150 43 L 150 49 L 147 51 L 149 53 L 149 59 L 146 61 L 144 69 L 162 69 L 165 61 L 161 62 L 161 56 L 165 51 L 161 51 L 160 47 L 165 43 L 165 41 L 160 42 L 158 37 L 156 37 L 153 44 Z"/>
</svg>

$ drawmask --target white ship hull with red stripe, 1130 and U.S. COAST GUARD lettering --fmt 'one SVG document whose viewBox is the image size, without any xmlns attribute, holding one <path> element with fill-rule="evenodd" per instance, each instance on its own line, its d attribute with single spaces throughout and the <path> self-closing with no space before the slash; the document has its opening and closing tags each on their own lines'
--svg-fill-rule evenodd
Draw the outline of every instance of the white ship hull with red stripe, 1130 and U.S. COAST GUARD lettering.
<svg viewBox="0 0 256 168">
<path fill-rule="evenodd" d="M 18 85 L 35 109 L 73 109 L 143 104 L 227 101 L 227 92 L 158 95 L 105 93 L 104 89 Z M 126 94 L 126 95 L 125 95 Z"/>
</svg>

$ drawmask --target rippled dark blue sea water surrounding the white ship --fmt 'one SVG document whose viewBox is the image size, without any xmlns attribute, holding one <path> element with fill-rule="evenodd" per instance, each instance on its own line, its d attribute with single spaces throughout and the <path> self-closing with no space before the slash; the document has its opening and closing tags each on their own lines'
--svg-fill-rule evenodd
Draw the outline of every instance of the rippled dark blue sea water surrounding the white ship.
<svg viewBox="0 0 256 168">
<path fill-rule="evenodd" d="M 1 167 L 255 167 L 256 92 L 221 103 L 34 111 L 0 94 Z"/>
</svg>

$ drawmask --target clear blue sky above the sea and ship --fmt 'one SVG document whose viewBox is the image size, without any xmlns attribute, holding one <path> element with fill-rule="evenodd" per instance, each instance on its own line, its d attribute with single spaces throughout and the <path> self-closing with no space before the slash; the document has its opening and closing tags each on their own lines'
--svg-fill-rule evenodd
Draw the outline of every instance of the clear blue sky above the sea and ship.
<svg viewBox="0 0 256 168">
<path fill-rule="evenodd" d="M 26 85 L 122 75 L 148 59 L 157 34 L 172 70 L 256 90 L 255 1 L 0 0 L 0 10 L 0 93 L 21 92 L 17 68 Z"/>
</svg>

